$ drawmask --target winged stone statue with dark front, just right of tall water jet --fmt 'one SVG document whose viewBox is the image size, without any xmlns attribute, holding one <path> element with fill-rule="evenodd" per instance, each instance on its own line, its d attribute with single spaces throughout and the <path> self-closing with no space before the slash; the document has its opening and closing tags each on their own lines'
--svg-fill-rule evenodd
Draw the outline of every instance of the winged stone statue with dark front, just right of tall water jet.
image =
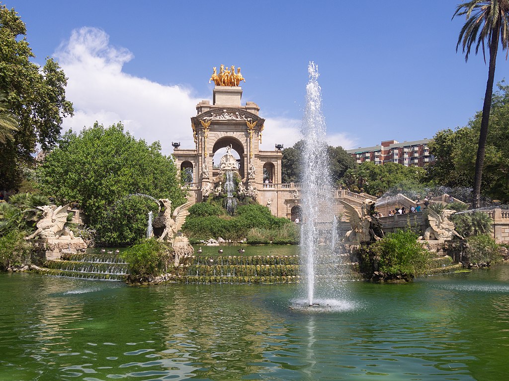
<svg viewBox="0 0 509 381">
<path fill-rule="evenodd" d="M 380 239 L 380 235 L 383 236 L 383 232 L 379 229 L 379 233 L 375 233 L 372 225 L 373 218 L 370 215 L 371 207 L 375 204 L 373 200 L 366 200 L 362 204 L 361 211 L 359 212 L 350 203 L 339 200 L 345 210 L 343 214 L 347 218 L 347 222 L 350 223 L 351 230 L 345 235 L 345 240 L 350 242 L 370 242 L 373 239 Z"/>
</svg>

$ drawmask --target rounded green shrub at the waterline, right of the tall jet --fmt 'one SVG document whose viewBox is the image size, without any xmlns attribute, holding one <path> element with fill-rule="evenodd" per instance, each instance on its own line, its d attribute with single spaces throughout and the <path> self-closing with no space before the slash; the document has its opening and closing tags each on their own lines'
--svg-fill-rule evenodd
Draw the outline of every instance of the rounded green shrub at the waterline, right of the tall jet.
<svg viewBox="0 0 509 381">
<path fill-rule="evenodd" d="M 410 280 L 425 273 L 429 255 L 416 240 L 417 235 L 409 230 L 386 234 L 365 249 L 362 270 L 366 275 L 378 271 L 382 280 Z"/>
</svg>

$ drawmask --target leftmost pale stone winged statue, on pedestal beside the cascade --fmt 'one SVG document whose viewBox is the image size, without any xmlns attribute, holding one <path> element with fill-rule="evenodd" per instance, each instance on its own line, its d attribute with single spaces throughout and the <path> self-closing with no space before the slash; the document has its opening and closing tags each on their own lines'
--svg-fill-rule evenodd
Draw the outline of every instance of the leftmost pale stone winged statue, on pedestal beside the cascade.
<svg viewBox="0 0 509 381">
<path fill-rule="evenodd" d="M 61 237 L 74 239 L 72 231 L 65 227 L 69 204 L 61 205 L 54 210 L 48 205 L 38 206 L 37 208 L 43 211 L 43 217 L 36 225 L 37 230 L 25 239 L 34 239 L 38 235 L 43 239 L 59 239 Z"/>
</svg>

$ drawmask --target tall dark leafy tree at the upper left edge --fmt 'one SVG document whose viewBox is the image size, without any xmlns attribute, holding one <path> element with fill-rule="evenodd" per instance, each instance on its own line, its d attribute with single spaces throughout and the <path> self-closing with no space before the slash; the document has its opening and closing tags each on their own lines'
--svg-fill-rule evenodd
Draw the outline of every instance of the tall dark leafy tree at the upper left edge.
<svg viewBox="0 0 509 381">
<path fill-rule="evenodd" d="M 34 54 L 25 35 L 25 24 L 14 9 L 0 4 L 0 89 L 17 122 L 17 130 L 11 128 L 8 139 L 0 140 L 0 189 L 17 186 L 36 146 L 52 146 L 63 118 L 73 113 L 65 98 L 64 72 L 51 58 L 42 68 L 31 62 Z"/>
</svg>

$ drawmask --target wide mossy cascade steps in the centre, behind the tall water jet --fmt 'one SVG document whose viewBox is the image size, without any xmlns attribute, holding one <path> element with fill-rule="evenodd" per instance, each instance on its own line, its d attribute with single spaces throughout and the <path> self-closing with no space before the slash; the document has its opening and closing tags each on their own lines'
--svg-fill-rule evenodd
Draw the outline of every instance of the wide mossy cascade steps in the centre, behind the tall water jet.
<svg viewBox="0 0 509 381">
<path fill-rule="evenodd" d="M 327 263 L 334 266 L 338 280 L 361 279 L 358 264 Z M 332 257 L 332 256 L 331 256 Z M 191 256 L 169 278 L 183 283 L 294 283 L 301 280 L 299 256 Z M 336 261 L 337 262 L 337 261 Z"/>
</svg>

